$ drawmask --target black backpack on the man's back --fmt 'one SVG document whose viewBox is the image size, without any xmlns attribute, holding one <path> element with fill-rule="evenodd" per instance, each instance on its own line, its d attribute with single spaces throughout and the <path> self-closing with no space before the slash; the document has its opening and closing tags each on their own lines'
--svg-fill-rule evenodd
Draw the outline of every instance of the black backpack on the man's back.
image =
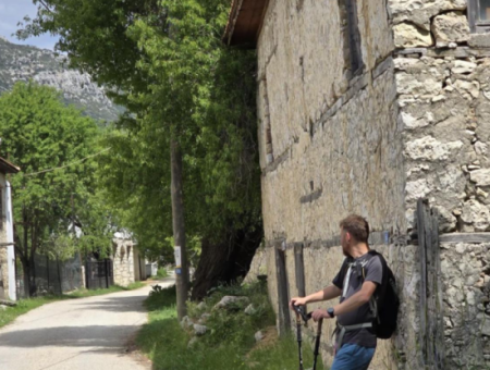
<svg viewBox="0 0 490 370">
<path fill-rule="evenodd" d="M 377 337 L 389 340 L 396 330 L 399 319 L 400 298 L 396 294 L 396 281 L 384 257 L 376 250 L 370 250 L 369 254 L 372 257 L 379 256 L 383 267 L 382 282 L 373 298 L 378 312 L 372 326 Z"/>
</svg>

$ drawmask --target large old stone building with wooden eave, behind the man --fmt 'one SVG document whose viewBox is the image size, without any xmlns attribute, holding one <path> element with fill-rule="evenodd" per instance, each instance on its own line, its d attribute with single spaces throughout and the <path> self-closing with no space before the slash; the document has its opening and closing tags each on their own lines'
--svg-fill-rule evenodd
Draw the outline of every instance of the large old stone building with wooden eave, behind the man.
<svg viewBox="0 0 490 370">
<path fill-rule="evenodd" d="M 335 275 L 339 222 L 356 212 L 402 299 L 397 334 L 379 342 L 371 369 L 490 367 L 488 30 L 489 0 L 233 1 L 224 41 L 257 49 L 281 331 L 289 298 Z M 332 322 L 323 330 L 330 363 Z"/>
</svg>

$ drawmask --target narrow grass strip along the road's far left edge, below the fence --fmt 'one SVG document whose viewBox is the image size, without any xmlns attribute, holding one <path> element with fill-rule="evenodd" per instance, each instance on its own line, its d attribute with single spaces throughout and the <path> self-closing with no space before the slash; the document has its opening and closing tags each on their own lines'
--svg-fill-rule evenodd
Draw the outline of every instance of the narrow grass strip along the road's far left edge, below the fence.
<svg viewBox="0 0 490 370">
<path fill-rule="evenodd" d="M 84 297 L 93 297 L 98 296 L 102 294 L 109 294 L 109 293 L 115 293 L 115 292 L 123 292 L 123 291 L 132 291 L 137 289 L 139 287 L 145 286 L 142 282 L 135 282 L 130 284 L 127 287 L 119 286 L 119 285 L 112 285 L 111 287 L 107 289 L 78 289 L 70 294 L 63 294 L 61 296 L 56 295 L 49 295 L 49 296 L 41 296 L 41 297 L 35 297 L 35 298 L 28 298 L 28 299 L 21 299 L 17 301 L 17 305 L 15 307 L 7 307 L 7 309 L 0 310 L 0 328 L 11 323 L 14 321 L 17 317 L 21 314 L 24 314 L 35 308 L 38 308 L 42 305 L 62 300 L 62 299 L 76 299 L 76 298 L 84 298 Z"/>
</svg>

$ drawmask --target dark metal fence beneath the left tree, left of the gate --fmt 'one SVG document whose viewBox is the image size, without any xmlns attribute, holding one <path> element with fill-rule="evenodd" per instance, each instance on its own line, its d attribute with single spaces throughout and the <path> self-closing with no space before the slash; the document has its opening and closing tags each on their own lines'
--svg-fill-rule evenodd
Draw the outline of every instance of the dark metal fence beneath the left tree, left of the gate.
<svg viewBox="0 0 490 370">
<path fill-rule="evenodd" d="M 35 255 L 32 274 L 35 295 L 63 294 L 84 286 L 84 273 L 79 255 L 65 260 L 52 260 L 48 256 Z M 19 298 L 25 298 L 24 274 L 16 274 L 15 287 Z"/>
</svg>

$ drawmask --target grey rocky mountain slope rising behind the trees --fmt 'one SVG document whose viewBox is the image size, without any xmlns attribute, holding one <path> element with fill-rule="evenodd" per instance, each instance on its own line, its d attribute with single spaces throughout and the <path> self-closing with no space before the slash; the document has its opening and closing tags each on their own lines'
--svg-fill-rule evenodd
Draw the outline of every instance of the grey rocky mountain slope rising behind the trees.
<svg viewBox="0 0 490 370">
<path fill-rule="evenodd" d="M 75 104 L 96 120 L 117 120 L 123 109 L 112 103 L 88 74 L 68 69 L 63 59 L 51 50 L 11 44 L 0 37 L 0 95 L 17 81 L 32 78 L 57 88 L 66 103 Z"/>
</svg>

